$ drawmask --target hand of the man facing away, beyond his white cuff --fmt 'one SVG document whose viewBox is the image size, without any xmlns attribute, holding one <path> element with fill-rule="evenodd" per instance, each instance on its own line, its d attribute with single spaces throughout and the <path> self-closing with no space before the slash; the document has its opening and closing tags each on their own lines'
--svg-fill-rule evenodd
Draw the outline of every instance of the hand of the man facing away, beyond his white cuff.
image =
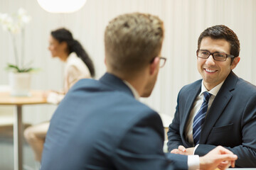
<svg viewBox="0 0 256 170">
<path fill-rule="evenodd" d="M 200 157 L 200 169 L 227 169 L 230 165 L 235 167 L 238 156 L 224 147 L 215 147 L 208 154 Z"/>
</svg>

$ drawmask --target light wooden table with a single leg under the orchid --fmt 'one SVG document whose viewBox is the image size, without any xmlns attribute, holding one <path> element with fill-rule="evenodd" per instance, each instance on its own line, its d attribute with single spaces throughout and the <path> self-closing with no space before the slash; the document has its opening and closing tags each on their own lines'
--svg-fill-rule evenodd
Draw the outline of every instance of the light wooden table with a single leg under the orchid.
<svg viewBox="0 0 256 170">
<path fill-rule="evenodd" d="M 47 103 L 43 96 L 43 91 L 31 91 L 31 96 L 16 97 L 11 96 L 9 91 L 0 91 L 0 105 L 16 106 L 14 113 L 14 170 L 22 170 L 23 152 L 23 124 L 22 106 Z"/>
</svg>

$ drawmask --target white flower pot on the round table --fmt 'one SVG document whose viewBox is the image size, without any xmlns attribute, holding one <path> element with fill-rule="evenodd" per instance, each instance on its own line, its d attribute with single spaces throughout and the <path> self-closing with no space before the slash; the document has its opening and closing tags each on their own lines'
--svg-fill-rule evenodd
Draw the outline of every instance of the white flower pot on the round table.
<svg viewBox="0 0 256 170">
<path fill-rule="evenodd" d="M 30 96 L 31 73 L 9 72 L 11 96 Z"/>
</svg>

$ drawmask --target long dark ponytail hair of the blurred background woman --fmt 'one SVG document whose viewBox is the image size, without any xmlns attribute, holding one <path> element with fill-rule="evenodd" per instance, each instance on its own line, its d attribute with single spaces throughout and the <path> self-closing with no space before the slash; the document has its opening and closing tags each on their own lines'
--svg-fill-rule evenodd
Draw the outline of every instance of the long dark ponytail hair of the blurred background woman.
<svg viewBox="0 0 256 170">
<path fill-rule="evenodd" d="M 53 38 L 58 40 L 58 42 L 67 42 L 69 54 L 71 52 L 75 52 L 76 55 L 78 55 L 78 57 L 80 57 L 80 59 L 83 62 L 85 62 L 86 66 L 90 71 L 91 76 L 95 77 L 95 68 L 92 63 L 92 60 L 90 59 L 89 55 L 87 55 L 87 52 L 82 47 L 80 42 L 73 38 L 73 35 L 69 30 L 65 28 L 59 28 L 57 30 L 51 31 L 50 34 L 53 36 Z"/>
</svg>

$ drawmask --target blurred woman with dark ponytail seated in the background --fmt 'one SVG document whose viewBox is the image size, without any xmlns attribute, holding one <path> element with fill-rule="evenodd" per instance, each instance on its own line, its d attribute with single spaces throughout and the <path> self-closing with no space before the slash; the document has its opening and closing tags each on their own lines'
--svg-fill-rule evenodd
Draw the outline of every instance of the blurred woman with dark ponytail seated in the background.
<svg viewBox="0 0 256 170">
<path fill-rule="evenodd" d="M 46 93 L 48 103 L 58 104 L 79 79 L 95 77 L 95 69 L 80 42 L 73 39 L 72 33 L 65 28 L 53 30 L 50 33 L 48 50 L 52 57 L 58 57 L 65 62 L 63 91 Z M 49 125 L 49 122 L 32 125 L 24 131 L 24 136 L 28 144 L 31 145 L 38 162 L 41 162 L 43 143 Z"/>
</svg>

